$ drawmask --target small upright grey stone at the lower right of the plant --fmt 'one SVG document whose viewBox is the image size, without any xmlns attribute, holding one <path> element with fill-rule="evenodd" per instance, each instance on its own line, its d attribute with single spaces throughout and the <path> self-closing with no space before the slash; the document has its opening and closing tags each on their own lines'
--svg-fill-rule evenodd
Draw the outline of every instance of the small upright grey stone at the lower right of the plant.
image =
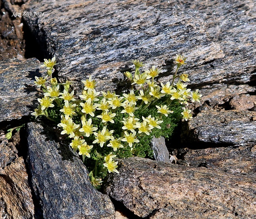
<svg viewBox="0 0 256 219">
<path fill-rule="evenodd" d="M 155 138 L 151 141 L 151 148 L 155 160 L 163 162 L 171 162 L 169 159 L 169 151 L 165 145 L 164 137 Z"/>
</svg>

